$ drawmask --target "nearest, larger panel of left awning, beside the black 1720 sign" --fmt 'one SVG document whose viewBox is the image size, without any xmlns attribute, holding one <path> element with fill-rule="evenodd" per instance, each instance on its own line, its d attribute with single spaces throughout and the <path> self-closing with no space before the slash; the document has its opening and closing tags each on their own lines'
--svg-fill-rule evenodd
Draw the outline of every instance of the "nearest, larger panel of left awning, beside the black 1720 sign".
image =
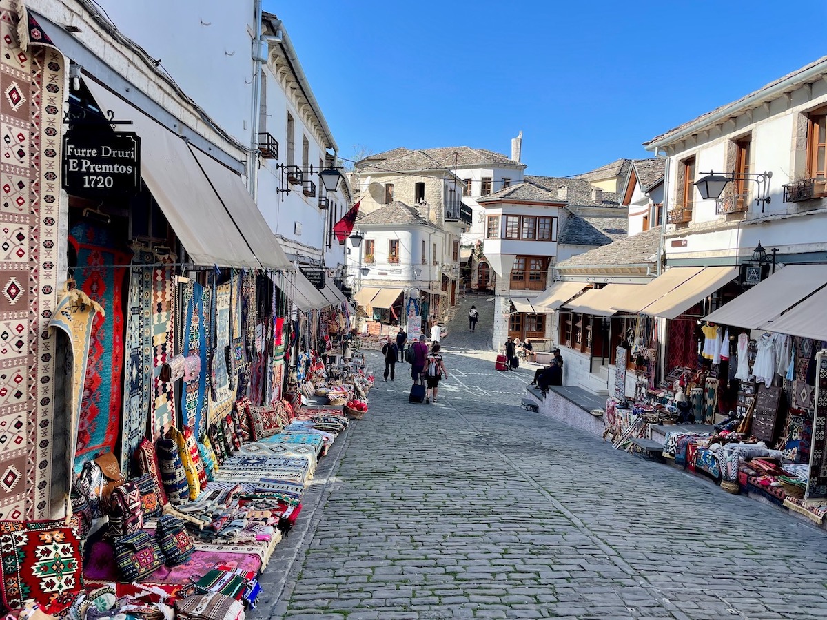
<svg viewBox="0 0 827 620">
<path fill-rule="evenodd" d="M 84 78 L 98 107 L 141 136 L 141 178 L 196 265 L 261 269 L 187 143 L 115 93 Z"/>
</svg>

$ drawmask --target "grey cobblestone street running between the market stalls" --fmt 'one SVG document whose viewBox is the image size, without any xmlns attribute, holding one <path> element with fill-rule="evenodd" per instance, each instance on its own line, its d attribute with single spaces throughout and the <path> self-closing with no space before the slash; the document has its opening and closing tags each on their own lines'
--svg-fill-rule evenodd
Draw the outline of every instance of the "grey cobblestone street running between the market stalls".
<svg viewBox="0 0 827 620">
<path fill-rule="evenodd" d="M 250 618 L 827 616 L 825 532 L 519 408 L 488 357 L 437 405 L 376 384 Z"/>
</svg>

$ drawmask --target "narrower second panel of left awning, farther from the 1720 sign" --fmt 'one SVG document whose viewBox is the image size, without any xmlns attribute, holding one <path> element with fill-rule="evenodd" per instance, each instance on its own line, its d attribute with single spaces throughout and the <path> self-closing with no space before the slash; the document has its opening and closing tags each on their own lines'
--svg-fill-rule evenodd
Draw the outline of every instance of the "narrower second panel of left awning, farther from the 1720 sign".
<svg viewBox="0 0 827 620">
<path fill-rule="evenodd" d="M 241 177 L 193 145 L 189 145 L 189 150 L 193 152 L 198 165 L 218 193 L 218 198 L 241 229 L 241 234 L 250 244 L 261 266 L 265 269 L 294 269 L 270 230 L 270 225 L 241 183 Z"/>
</svg>

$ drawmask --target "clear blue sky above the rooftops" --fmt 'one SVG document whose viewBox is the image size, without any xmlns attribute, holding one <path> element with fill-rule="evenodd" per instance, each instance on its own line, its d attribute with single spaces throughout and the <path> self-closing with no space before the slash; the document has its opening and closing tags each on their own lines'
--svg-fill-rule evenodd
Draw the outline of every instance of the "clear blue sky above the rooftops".
<svg viewBox="0 0 827 620">
<path fill-rule="evenodd" d="M 396 146 L 509 154 L 568 175 L 827 55 L 822 0 L 265 0 L 350 157 Z"/>
</svg>

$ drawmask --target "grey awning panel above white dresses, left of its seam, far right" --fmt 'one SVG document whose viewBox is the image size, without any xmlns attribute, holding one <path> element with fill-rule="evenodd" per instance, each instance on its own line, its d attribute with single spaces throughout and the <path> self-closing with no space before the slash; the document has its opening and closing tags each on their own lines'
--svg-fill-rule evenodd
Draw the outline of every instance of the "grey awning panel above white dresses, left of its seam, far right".
<svg viewBox="0 0 827 620">
<path fill-rule="evenodd" d="M 774 326 L 782 313 L 786 317 L 786 310 L 825 283 L 827 265 L 787 265 L 704 317 L 704 320 L 747 329 L 767 329 L 765 326 L 772 324 L 772 331 L 776 331 Z"/>
</svg>

